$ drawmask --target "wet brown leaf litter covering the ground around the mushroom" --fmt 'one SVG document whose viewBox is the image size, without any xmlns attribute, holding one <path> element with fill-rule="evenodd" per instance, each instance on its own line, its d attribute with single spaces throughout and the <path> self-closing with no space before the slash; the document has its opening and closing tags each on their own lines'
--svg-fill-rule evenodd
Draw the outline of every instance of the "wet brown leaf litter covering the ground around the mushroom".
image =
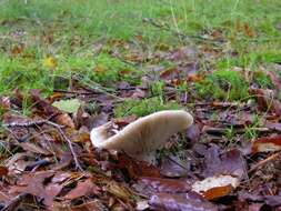
<svg viewBox="0 0 281 211">
<path fill-rule="evenodd" d="M 254 36 L 250 26 L 243 28 L 249 37 Z M 2 210 L 280 209 L 281 107 L 275 72 L 269 73 L 275 90 L 250 87 L 249 101 L 210 101 L 199 98 L 193 88 L 205 78 L 199 57 L 212 60 L 220 57 L 219 50 L 208 46 L 159 48 L 152 57 L 130 49 L 133 44 L 126 41 L 112 43 L 114 57 L 130 64 L 148 60 L 154 64 L 142 84 L 121 81 L 112 91 L 73 77 L 68 90 L 57 90 L 50 98 L 31 90 L 28 117 L 20 114 L 21 91 L 1 97 Z M 155 66 L 163 58 L 174 67 Z M 54 62 L 49 66 L 54 68 Z M 194 117 L 194 124 L 160 151 L 158 164 L 120 151 L 94 149 L 90 130 L 108 120 L 124 127 L 138 119 L 114 119 L 113 109 L 129 98 L 151 98 L 150 86 L 158 80 L 164 82 L 162 97 L 182 102 Z M 184 83 L 189 90 L 179 96 L 178 86 Z"/>
</svg>

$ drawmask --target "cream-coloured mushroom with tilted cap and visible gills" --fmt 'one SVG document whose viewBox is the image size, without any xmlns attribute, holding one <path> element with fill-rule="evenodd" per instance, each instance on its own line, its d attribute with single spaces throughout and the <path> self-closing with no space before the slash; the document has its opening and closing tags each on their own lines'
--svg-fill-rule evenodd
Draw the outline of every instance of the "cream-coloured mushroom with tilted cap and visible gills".
<svg viewBox="0 0 281 211">
<path fill-rule="evenodd" d="M 110 134 L 112 122 L 91 130 L 91 142 L 97 148 L 122 150 L 127 154 L 148 162 L 154 162 L 155 150 L 167 140 L 193 123 L 190 113 L 183 110 L 164 110 L 128 124 L 116 134 Z"/>
</svg>

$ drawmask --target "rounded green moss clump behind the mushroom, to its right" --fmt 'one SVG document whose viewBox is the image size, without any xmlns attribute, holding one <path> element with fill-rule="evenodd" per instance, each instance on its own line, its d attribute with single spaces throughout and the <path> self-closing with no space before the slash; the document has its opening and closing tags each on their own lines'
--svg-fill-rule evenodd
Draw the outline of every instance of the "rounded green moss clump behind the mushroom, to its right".
<svg viewBox="0 0 281 211">
<path fill-rule="evenodd" d="M 195 84 L 200 97 L 213 100 L 241 100 L 247 98 L 249 84 L 237 71 L 218 70 Z"/>
</svg>

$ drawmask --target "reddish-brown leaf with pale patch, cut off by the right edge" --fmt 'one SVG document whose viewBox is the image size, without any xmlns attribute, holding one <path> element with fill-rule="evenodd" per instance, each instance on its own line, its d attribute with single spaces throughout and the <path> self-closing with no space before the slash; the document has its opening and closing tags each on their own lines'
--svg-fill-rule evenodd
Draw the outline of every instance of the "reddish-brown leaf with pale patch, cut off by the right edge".
<svg viewBox="0 0 281 211">
<path fill-rule="evenodd" d="M 260 138 L 253 142 L 252 152 L 274 152 L 281 150 L 281 135 Z"/>
</svg>

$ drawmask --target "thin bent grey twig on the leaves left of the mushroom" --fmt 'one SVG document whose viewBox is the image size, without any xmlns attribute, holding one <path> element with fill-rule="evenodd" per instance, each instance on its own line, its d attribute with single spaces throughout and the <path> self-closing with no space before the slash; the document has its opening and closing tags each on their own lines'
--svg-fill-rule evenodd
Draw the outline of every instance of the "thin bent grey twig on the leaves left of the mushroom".
<svg viewBox="0 0 281 211">
<path fill-rule="evenodd" d="M 49 120 L 37 120 L 37 121 L 29 121 L 29 122 L 24 122 L 24 123 L 12 122 L 12 123 L 8 123 L 8 124 L 3 124 L 3 125 L 7 127 L 7 128 L 9 128 L 9 127 L 31 127 L 31 125 L 39 125 L 39 124 L 44 124 L 44 123 L 56 128 L 58 130 L 58 132 L 60 133 L 60 135 L 62 137 L 62 139 L 64 139 L 68 142 L 69 149 L 71 151 L 71 154 L 72 154 L 74 163 L 76 163 L 76 168 L 79 169 L 80 171 L 83 171 L 82 167 L 80 165 L 80 163 L 78 161 L 78 158 L 77 158 L 77 154 L 74 152 L 71 140 L 61 130 L 61 128 L 63 128 L 63 125 L 53 123 Z"/>
</svg>

